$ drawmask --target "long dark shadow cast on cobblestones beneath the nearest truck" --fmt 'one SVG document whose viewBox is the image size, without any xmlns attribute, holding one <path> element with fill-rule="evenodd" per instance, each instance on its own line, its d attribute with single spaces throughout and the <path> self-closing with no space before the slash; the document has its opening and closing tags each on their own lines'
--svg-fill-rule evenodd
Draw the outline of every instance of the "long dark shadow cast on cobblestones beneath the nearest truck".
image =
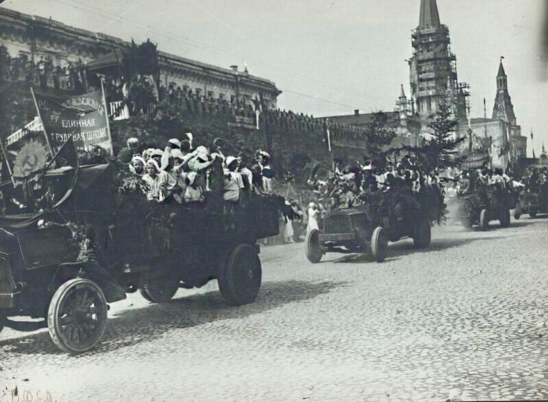
<svg viewBox="0 0 548 402">
<path fill-rule="evenodd" d="M 161 305 L 128 309 L 108 319 L 105 334 L 97 348 L 76 357 L 116 351 L 140 342 L 149 342 L 172 329 L 196 327 L 219 320 L 246 318 L 288 303 L 299 303 L 326 294 L 343 285 L 345 282 L 267 282 L 262 284 L 254 303 L 240 307 L 227 305 L 219 292 L 208 292 L 173 299 Z M 0 351 L 13 355 L 64 353 L 53 344 L 47 331 L 1 341 Z"/>
</svg>

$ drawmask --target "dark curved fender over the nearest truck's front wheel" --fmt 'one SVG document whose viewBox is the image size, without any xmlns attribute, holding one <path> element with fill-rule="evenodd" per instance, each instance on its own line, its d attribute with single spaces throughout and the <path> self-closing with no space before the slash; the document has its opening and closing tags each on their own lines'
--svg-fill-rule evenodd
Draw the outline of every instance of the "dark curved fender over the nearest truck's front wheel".
<svg viewBox="0 0 548 402">
<path fill-rule="evenodd" d="M 62 263 L 55 272 L 54 281 L 64 283 L 69 279 L 86 278 L 94 281 L 101 287 L 108 303 L 113 303 L 126 298 L 125 289 L 121 287 L 114 277 L 96 263 L 87 261 Z M 57 287 L 55 287 L 56 289 Z"/>
</svg>

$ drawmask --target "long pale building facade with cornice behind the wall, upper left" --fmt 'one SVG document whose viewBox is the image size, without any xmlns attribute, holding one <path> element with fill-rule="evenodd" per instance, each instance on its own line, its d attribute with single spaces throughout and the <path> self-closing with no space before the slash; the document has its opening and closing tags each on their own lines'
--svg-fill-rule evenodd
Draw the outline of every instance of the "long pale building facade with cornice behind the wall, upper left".
<svg viewBox="0 0 548 402">
<path fill-rule="evenodd" d="M 99 32 L 70 27 L 58 21 L 31 16 L 0 8 L 1 44 L 10 56 L 26 56 L 34 63 L 49 60 L 54 67 L 68 67 L 78 62 L 91 62 L 112 53 L 113 49 L 127 49 L 130 43 Z M 276 108 L 281 93 L 274 82 L 238 71 L 232 66 L 223 69 L 163 51 L 158 52 L 160 82 L 166 88 L 180 87 L 208 99 L 225 99 L 252 105 L 262 97 L 264 105 Z"/>
</svg>

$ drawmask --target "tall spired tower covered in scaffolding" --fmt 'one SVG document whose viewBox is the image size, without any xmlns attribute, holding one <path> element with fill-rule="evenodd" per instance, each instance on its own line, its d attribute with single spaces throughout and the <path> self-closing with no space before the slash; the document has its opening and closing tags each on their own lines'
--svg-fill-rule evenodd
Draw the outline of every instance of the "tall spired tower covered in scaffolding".
<svg viewBox="0 0 548 402">
<path fill-rule="evenodd" d="M 456 118 L 466 116 L 469 86 L 458 82 L 456 56 L 451 53 L 450 43 L 449 28 L 440 23 L 436 0 L 421 0 L 409 68 L 411 97 L 423 122 L 436 113 L 442 100 L 451 103 Z"/>
</svg>

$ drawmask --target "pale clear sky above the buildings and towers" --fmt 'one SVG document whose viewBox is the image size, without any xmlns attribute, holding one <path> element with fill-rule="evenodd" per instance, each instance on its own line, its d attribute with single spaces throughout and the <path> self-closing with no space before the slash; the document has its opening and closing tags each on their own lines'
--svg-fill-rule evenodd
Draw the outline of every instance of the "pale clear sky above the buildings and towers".
<svg viewBox="0 0 548 402">
<path fill-rule="evenodd" d="M 1 7 L 61 21 L 275 82 L 278 106 L 314 117 L 393 110 L 409 95 L 411 34 L 420 0 L 5 0 Z M 499 58 L 527 154 L 548 150 L 548 0 L 438 0 L 471 114 L 493 113 Z M 544 96 L 543 96 L 544 95 Z M 534 141 L 530 132 L 534 132 Z"/>
</svg>

